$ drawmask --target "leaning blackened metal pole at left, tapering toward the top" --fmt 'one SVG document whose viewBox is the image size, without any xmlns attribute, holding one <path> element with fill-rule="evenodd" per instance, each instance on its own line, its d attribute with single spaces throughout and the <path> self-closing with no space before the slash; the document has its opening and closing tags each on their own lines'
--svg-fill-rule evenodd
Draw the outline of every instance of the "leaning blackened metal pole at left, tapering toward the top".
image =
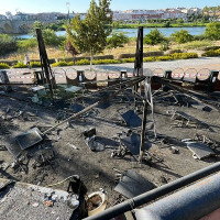
<svg viewBox="0 0 220 220">
<path fill-rule="evenodd" d="M 46 82 L 48 84 L 50 96 L 51 96 L 51 99 L 53 100 L 54 94 L 53 94 L 52 80 L 50 79 L 50 78 L 53 79 L 53 74 L 52 74 L 48 57 L 46 54 L 46 48 L 44 45 L 44 40 L 42 36 L 41 29 L 36 29 L 36 37 L 37 37 L 37 42 L 38 42 L 38 52 L 40 52 L 42 69 L 44 69 Z"/>
</svg>

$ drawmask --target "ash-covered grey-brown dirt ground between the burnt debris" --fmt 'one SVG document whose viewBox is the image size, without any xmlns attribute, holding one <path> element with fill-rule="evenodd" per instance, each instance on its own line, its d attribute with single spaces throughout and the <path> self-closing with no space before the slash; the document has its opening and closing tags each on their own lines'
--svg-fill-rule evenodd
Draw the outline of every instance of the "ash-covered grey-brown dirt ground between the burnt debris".
<svg viewBox="0 0 220 220">
<path fill-rule="evenodd" d="M 13 150 L 18 147 L 15 142 L 18 134 L 35 127 L 44 132 L 55 125 L 57 121 L 72 116 L 69 110 L 62 108 L 64 107 L 62 105 L 44 107 L 32 103 L 30 88 L 23 90 L 16 88 L 9 95 L 14 98 L 0 96 L 0 146 Z M 102 97 L 105 96 L 107 95 L 105 94 Z M 21 101 L 18 98 L 24 100 Z M 97 99 L 100 97 L 92 96 L 90 99 L 80 99 L 77 103 L 86 107 Z M 193 103 L 193 100 L 187 102 Z M 135 108 L 131 97 L 120 95 L 109 102 L 108 108 L 95 108 L 81 118 L 52 131 L 41 143 L 22 151 L 23 166 L 14 165 L 14 157 L 9 151 L 0 151 L 0 177 L 47 186 L 76 174 L 82 179 L 88 193 L 97 191 L 100 188 L 107 191 L 108 207 L 110 207 L 120 201 L 119 194 L 113 190 L 117 186 L 117 173 L 113 168 L 121 172 L 133 169 L 158 187 L 219 161 L 218 150 L 220 146 L 215 150 L 217 156 L 199 161 L 193 157 L 193 153 L 182 142 L 184 139 L 195 139 L 196 133 L 205 134 L 211 140 L 220 142 L 219 112 L 215 110 L 208 112 L 193 107 L 188 108 L 185 105 L 176 105 L 170 91 L 155 94 L 154 105 L 158 138 L 156 140 L 153 138 L 153 119 L 150 109 L 146 138 L 152 144 L 148 152 L 160 160 L 153 157 L 152 161 L 140 164 L 130 155 L 124 158 L 111 157 L 112 151 L 119 146 L 119 142 L 114 139 L 117 134 L 128 133 L 129 130 L 136 134 L 141 133 L 141 127 L 132 128 L 123 122 L 120 112 Z M 142 101 L 139 101 L 138 116 L 140 118 L 142 118 Z M 172 110 L 183 111 L 197 119 L 196 127 L 190 123 L 186 127 L 174 125 L 175 121 L 167 113 Z M 99 140 L 106 144 L 105 151 L 92 152 L 86 145 L 81 133 L 92 127 L 96 128 Z M 161 143 L 164 138 L 168 139 L 168 144 Z M 179 153 L 173 154 L 170 145 L 177 147 Z M 53 187 L 66 190 L 67 184 L 68 182 L 65 182 Z"/>
</svg>

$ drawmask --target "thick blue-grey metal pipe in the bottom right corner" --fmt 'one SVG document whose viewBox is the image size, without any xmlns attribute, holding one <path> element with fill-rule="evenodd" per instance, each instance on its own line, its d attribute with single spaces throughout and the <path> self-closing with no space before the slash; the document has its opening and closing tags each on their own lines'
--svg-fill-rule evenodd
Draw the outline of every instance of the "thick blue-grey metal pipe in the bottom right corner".
<svg viewBox="0 0 220 220">
<path fill-rule="evenodd" d="M 220 173 L 135 211 L 136 220 L 194 220 L 220 208 Z"/>
</svg>

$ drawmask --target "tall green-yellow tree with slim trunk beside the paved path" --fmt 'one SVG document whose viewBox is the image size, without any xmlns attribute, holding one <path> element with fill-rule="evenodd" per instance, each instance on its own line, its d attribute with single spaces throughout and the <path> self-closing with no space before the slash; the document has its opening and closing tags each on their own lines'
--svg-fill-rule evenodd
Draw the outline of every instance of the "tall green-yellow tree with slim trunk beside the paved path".
<svg viewBox="0 0 220 220">
<path fill-rule="evenodd" d="M 74 47 L 81 53 L 90 53 L 90 67 L 94 55 L 101 53 L 107 46 L 107 36 L 111 33 L 112 13 L 109 9 L 111 0 L 99 0 L 99 6 L 91 0 L 85 20 L 75 16 L 67 33 Z"/>
</svg>

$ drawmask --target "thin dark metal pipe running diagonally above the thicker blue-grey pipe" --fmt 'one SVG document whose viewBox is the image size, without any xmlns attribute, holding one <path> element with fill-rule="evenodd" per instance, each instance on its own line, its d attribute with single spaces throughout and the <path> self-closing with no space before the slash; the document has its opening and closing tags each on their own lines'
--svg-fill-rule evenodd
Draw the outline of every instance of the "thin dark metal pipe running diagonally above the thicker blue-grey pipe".
<svg viewBox="0 0 220 220">
<path fill-rule="evenodd" d="M 220 162 L 218 162 L 211 166 L 208 166 L 206 168 L 202 168 L 200 170 L 197 170 L 193 174 L 189 174 L 187 176 L 184 176 L 184 177 L 182 177 L 173 183 L 166 184 L 160 188 L 153 189 L 153 190 L 142 194 L 138 197 L 134 197 L 133 199 L 127 200 L 122 204 L 111 207 L 100 213 L 88 217 L 85 220 L 103 220 L 103 219 L 108 220 L 108 219 L 114 218 L 121 213 L 133 210 L 136 207 L 143 206 L 152 200 L 155 200 L 162 196 L 165 196 L 172 191 L 175 191 L 182 187 L 185 187 L 196 180 L 199 180 L 200 178 L 207 177 L 208 175 L 213 174 L 219 170 L 220 170 Z"/>
</svg>

